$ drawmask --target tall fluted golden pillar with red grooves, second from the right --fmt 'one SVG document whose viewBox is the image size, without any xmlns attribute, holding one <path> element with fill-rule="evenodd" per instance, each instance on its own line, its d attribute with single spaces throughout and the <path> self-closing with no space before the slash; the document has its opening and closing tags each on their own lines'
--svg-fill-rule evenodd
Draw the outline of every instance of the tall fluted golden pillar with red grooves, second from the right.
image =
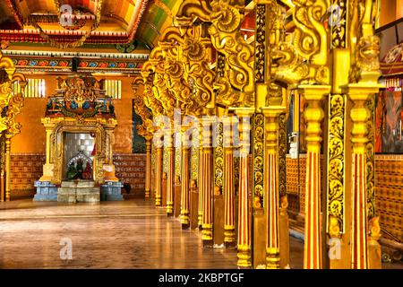
<svg viewBox="0 0 403 287">
<path fill-rule="evenodd" d="M 304 96 L 308 107 L 306 118 L 306 187 L 304 227 L 304 268 L 322 268 L 321 219 L 321 143 L 322 100 L 330 93 L 328 85 L 300 85 L 298 92 Z"/>
</svg>

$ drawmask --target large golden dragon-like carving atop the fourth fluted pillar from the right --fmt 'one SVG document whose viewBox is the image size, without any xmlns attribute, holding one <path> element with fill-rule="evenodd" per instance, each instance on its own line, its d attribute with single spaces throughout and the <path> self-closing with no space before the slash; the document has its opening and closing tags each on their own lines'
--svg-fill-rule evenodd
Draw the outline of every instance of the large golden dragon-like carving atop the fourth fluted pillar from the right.
<svg viewBox="0 0 403 287">
<path fill-rule="evenodd" d="M 240 32 L 241 8 L 242 5 L 229 0 L 214 0 L 210 4 L 186 0 L 176 14 L 176 22 L 181 27 L 190 27 L 194 22 L 210 24 L 211 43 L 226 57 L 228 67 L 226 77 L 216 79 L 217 100 L 227 106 L 250 107 L 254 103 L 254 48 Z"/>
</svg>

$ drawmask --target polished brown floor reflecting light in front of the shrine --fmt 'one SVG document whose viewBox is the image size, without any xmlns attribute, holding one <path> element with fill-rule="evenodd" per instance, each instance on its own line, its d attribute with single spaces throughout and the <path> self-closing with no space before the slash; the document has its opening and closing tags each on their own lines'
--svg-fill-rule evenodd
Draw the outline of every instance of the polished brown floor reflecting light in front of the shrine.
<svg viewBox="0 0 403 287">
<path fill-rule="evenodd" d="M 70 241 L 72 259 L 63 259 Z M 291 268 L 302 268 L 303 250 L 303 241 L 291 237 Z M 202 248 L 198 230 L 182 230 L 165 209 L 143 199 L 58 204 L 28 198 L 0 203 L 0 268 L 229 269 L 236 268 L 236 251 Z"/>
</svg>

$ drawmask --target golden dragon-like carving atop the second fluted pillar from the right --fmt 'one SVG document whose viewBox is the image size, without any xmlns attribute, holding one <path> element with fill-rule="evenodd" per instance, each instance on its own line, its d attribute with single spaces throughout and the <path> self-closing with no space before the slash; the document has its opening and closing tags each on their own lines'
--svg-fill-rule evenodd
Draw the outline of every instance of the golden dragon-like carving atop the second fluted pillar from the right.
<svg viewBox="0 0 403 287">
<path fill-rule="evenodd" d="M 292 44 L 279 43 L 273 48 L 273 74 L 277 81 L 329 84 L 328 31 L 322 19 L 329 1 L 292 0 L 296 24 Z"/>
</svg>

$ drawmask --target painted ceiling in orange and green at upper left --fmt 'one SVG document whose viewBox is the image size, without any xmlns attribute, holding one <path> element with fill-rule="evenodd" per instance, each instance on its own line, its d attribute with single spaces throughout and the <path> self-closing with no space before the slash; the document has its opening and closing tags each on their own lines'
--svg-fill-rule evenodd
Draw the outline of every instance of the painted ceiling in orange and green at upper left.
<svg viewBox="0 0 403 287">
<path fill-rule="evenodd" d="M 45 43 L 48 41 L 46 38 L 49 38 L 59 42 L 73 42 L 81 39 L 91 30 L 97 19 L 100 19 L 99 25 L 85 40 L 86 44 L 125 44 L 137 40 L 150 47 L 159 35 L 159 30 L 171 21 L 171 9 L 177 10 L 181 2 L 2 0 L 0 39 L 10 42 Z M 59 14 L 63 16 L 66 13 L 73 14 L 73 19 L 64 17 L 60 20 Z"/>
</svg>

